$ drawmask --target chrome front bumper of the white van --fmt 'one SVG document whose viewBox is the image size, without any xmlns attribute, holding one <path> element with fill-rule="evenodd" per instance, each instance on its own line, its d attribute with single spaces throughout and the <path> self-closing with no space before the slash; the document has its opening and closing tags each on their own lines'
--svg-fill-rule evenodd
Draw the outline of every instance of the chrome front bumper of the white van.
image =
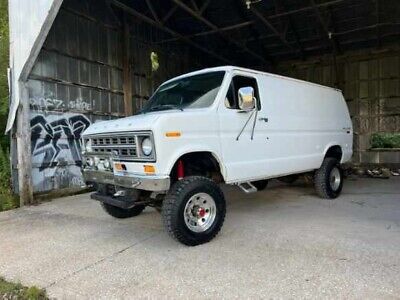
<svg viewBox="0 0 400 300">
<path fill-rule="evenodd" d="M 112 172 L 83 170 L 83 178 L 87 184 L 111 184 L 128 189 L 138 189 L 153 192 L 168 191 L 169 176 L 161 175 L 116 175 Z"/>
</svg>

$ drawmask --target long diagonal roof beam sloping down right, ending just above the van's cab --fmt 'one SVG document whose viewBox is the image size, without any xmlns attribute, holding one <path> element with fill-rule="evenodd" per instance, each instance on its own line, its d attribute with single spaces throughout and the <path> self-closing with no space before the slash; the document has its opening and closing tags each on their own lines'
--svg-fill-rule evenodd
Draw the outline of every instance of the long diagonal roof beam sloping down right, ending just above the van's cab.
<svg viewBox="0 0 400 300">
<path fill-rule="evenodd" d="M 141 14 L 140 12 L 138 12 L 138 11 L 134 10 L 133 8 L 125 5 L 124 3 L 121 3 L 121 2 L 119 2 L 117 0 L 113 0 L 112 4 L 115 5 L 118 8 L 126 11 L 128 14 L 134 16 L 135 18 L 140 19 L 143 22 L 146 22 L 146 23 L 148 23 L 148 24 L 150 24 L 150 25 L 152 25 L 154 27 L 157 27 L 158 29 L 160 29 L 162 31 L 165 31 L 165 32 L 169 33 L 170 35 L 172 35 L 172 36 L 174 36 L 176 38 L 179 38 L 180 40 L 182 40 L 185 43 L 191 45 L 192 47 L 194 47 L 196 49 L 199 49 L 199 50 L 203 51 L 204 53 L 207 53 L 210 56 L 212 56 L 212 57 L 214 57 L 214 58 L 216 58 L 216 59 L 218 59 L 218 60 L 220 60 L 220 61 L 222 61 L 224 63 L 231 64 L 231 61 L 228 60 L 227 58 L 225 58 L 224 56 L 221 56 L 221 55 L 213 52 L 212 50 L 210 50 L 208 48 L 205 48 L 205 47 L 203 47 L 203 46 L 191 41 L 190 39 L 184 37 L 180 33 L 170 29 L 169 27 L 165 26 L 162 23 L 158 23 L 157 21 L 155 21 L 155 20 L 153 20 L 153 19 Z"/>
</svg>

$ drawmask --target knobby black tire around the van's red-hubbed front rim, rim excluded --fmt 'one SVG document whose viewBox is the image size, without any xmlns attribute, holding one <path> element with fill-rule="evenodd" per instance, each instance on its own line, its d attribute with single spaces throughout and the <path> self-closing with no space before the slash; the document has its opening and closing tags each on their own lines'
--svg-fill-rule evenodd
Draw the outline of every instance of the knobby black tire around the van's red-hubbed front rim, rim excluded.
<svg viewBox="0 0 400 300">
<path fill-rule="evenodd" d="M 215 202 L 216 215 L 211 227 L 203 232 L 194 232 L 185 223 L 184 210 L 189 199 L 205 193 Z M 220 187 L 202 176 L 185 177 L 171 187 L 162 206 L 164 226 L 169 235 L 187 246 L 196 246 L 211 241 L 221 230 L 226 213 L 225 198 Z"/>
</svg>

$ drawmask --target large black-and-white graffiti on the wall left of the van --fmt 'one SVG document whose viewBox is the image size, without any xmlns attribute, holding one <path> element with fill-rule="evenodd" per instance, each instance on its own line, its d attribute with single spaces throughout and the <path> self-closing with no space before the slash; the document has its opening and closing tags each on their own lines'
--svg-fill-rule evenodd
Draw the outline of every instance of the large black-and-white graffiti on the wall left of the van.
<svg viewBox="0 0 400 300">
<path fill-rule="evenodd" d="M 82 114 L 34 114 L 30 125 L 35 189 L 84 185 L 80 137 L 90 120 Z"/>
</svg>

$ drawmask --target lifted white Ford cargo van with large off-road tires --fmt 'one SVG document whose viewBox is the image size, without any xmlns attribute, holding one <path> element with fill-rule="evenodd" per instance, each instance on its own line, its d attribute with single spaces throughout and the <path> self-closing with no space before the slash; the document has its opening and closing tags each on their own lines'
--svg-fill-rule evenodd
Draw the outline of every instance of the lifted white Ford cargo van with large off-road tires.
<svg viewBox="0 0 400 300">
<path fill-rule="evenodd" d="M 171 79 L 139 114 L 91 125 L 83 171 L 110 215 L 153 206 L 175 239 L 198 245 L 224 222 L 220 184 L 256 192 L 313 172 L 317 194 L 335 198 L 352 141 L 340 90 L 226 66 Z"/>
</svg>

